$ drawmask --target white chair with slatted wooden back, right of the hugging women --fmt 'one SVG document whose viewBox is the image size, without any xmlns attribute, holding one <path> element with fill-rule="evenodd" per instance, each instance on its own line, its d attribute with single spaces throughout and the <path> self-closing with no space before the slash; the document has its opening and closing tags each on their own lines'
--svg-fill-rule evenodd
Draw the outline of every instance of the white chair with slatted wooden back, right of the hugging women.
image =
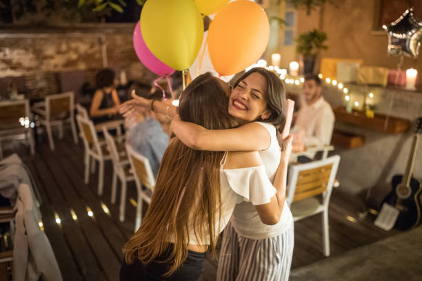
<svg viewBox="0 0 422 281">
<path fill-rule="evenodd" d="M 294 221 L 322 213 L 323 253 L 330 256 L 328 204 L 340 156 L 306 164 L 292 165 L 289 172 L 287 203 Z M 322 198 L 321 198 L 322 195 Z"/>
</svg>

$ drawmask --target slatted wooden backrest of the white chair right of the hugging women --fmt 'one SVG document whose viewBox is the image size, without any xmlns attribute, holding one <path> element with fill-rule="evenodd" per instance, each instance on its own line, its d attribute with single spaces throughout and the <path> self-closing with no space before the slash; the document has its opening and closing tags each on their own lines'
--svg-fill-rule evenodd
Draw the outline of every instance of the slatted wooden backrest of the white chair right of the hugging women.
<svg viewBox="0 0 422 281">
<path fill-rule="evenodd" d="M 323 205 L 328 205 L 339 163 L 340 156 L 334 155 L 311 163 L 293 165 L 289 174 L 288 204 L 323 194 Z"/>
</svg>

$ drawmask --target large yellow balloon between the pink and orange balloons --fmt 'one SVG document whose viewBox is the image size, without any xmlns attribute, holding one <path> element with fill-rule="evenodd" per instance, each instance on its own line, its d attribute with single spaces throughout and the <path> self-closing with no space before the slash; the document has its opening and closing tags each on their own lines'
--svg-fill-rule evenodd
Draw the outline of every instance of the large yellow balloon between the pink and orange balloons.
<svg viewBox="0 0 422 281">
<path fill-rule="evenodd" d="M 186 70 L 201 49 L 203 21 L 192 0 L 148 0 L 141 32 L 154 56 L 175 70 Z"/>
</svg>

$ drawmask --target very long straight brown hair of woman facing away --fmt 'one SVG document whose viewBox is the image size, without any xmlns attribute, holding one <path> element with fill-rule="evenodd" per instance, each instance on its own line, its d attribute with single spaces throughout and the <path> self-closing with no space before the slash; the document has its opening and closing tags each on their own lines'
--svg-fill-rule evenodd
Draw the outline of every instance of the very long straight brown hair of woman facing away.
<svg viewBox="0 0 422 281">
<path fill-rule="evenodd" d="M 207 129 L 227 129 L 234 125 L 228 114 L 228 98 L 210 73 L 194 79 L 181 94 L 179 116 Z M 199 244 L 210 236 L 210 252 L 215 254 L 221 216 L 219 163 L 223 152 L 190 149 L 172 139 L 161 160 L 151 204 L 139 230 L 123 248 L 125 260 L 137 258 L 143 264 L 161 260 L 171 264 L 171 274 L 188 254 L 189 233 Z M 217 227 L 216 227 L 217 226 Z M 169 242 L 174 242 L 171 253 Z"/>
</svg>

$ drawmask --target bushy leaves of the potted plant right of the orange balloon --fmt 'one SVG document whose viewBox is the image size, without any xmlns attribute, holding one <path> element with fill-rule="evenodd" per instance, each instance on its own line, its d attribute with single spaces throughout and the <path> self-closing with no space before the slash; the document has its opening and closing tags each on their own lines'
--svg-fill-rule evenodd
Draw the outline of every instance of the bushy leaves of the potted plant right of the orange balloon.
<svg viewBox="0 0 422 281">
<path fill-rule="evenodd" d="M 325 40 L 327 40 L 327 34 L 323 31 L 314 29 L 305 32 L 295 39 L 296 51 L 303 56 L 317 54 L 321 50 L 328 49 L 328 45 L 324 44 Z"/>
</svg>

